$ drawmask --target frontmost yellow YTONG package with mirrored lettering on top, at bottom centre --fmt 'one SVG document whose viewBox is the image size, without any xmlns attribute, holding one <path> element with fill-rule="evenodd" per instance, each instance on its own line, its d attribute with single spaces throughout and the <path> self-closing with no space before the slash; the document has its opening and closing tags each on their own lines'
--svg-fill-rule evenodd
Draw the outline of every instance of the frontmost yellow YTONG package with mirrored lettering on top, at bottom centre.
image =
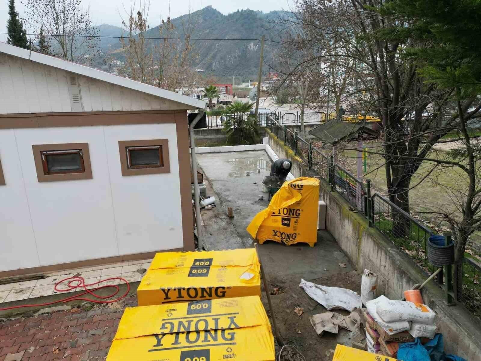
<svg viewBox="0 0 481 361">
<path fill-rule="evenodd" d="M 127 308 L 107 361 L 274 361 L 258 296 Z"/>
</svg>

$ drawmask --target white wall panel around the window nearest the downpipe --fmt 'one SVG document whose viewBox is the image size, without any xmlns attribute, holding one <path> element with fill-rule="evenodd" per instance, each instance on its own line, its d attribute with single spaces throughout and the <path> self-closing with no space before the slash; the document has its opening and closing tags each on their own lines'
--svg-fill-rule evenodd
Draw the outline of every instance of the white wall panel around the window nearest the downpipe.
<svg viewBox="0 0 481 361">
<path fill-rule="evenodd" d="M 175 124 L 104 127 L 120 254 L 183 247 Z M 118 141 L 168 139 L 170 173 L 122 176 Z"/>
</svg>

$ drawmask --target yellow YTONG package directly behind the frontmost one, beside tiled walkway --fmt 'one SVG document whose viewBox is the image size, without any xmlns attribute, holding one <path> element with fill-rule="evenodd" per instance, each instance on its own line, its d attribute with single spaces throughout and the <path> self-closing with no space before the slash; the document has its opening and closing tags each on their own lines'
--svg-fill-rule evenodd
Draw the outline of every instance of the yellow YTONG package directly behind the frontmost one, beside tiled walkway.
<svg viewBox="0 0 481 361">
<path fill-rule="evenodd" d="M 157 253 L 137 288 L 139 306 L 260 296 L 260 264 L 254 248 Z"/>
</svg>

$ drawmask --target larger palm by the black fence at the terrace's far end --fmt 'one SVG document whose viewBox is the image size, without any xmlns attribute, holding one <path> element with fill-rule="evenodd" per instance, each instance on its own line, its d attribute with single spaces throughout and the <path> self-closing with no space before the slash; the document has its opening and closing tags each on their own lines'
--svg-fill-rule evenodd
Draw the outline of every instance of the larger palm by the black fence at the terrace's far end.
<svg viewBox="0 0 481 361">
<path fill-rule="evenodd" d="M 229 144 L 255 144 L 259 142 L 257 117 L 249 114 L 255 103 L 236 101 L 226 106 L 227 119 L 222 131 L 227 134 Z"/>
</svg>

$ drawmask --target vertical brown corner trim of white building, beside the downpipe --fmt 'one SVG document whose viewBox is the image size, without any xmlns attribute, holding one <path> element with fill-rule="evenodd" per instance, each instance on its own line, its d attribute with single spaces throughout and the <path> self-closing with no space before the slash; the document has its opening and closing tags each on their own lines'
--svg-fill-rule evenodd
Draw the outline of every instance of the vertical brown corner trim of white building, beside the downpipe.
<svg viewBox="0 0 481 361">
<path fill-rule="evenodd" d="M 177 129 L 177 155 L 179 162 L 180 179 L 180 204 L 182 214 L 182 236 L 184 238 L 184 251 L 195 250 L 193 215 L 192 215 L 192 191 L 190 186 L 190 154 L 189 154 L 189 124 L 180 121 L 180 115 L 176 116 Z"/>
</svg>

